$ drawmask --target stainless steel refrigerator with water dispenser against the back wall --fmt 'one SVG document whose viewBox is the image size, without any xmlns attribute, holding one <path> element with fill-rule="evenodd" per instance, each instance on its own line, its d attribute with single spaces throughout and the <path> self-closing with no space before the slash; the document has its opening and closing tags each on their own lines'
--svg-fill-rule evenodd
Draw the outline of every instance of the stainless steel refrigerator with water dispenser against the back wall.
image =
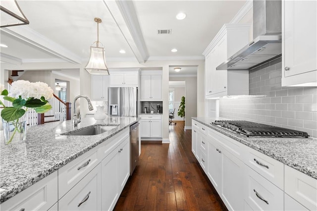
<svg viewBox="0 0 317 211">
<path fill-rule="evenodd" d="M 108 115 L 138 116 L 138 88 L 109 87 Z"/>
</svg>

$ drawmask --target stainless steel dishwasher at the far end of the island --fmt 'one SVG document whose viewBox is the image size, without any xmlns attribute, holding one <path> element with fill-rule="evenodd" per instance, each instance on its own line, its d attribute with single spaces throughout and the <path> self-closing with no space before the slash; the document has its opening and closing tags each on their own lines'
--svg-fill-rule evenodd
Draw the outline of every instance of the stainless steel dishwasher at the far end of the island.
<svg viewBox="0 0 317 211">
<path fill-rule="evenodd" d="M 139 160 L 139 122 L 130 126 L 130 175 Z"/>
</svg>

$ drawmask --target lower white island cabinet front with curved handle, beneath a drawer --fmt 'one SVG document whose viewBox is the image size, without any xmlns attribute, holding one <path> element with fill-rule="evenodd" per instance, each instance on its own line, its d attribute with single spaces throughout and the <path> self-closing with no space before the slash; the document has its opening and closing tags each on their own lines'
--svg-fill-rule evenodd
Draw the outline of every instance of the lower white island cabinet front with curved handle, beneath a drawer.
<svg viewBox="0 0 317 211">
<path fill-rule="evenodd" d="M 101 164 L 98 164 L 58 202 L 59 211 L 101 210 Z"/>
</svg>

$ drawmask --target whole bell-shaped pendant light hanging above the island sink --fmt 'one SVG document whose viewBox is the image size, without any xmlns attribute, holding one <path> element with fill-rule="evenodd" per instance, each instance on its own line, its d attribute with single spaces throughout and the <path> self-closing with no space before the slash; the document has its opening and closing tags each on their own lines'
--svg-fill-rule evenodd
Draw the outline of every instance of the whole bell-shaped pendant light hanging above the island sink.
<svg viewBox="0 0 317 211">
<path fill-rule="evenodd" d="M 90 47 L 90 57 L 85 70 L 92 75 L 109 75 L 105 60 L 105 49 L 103 44 L 99 42 L 99 24 L 102 20 L 95 18 L 94 21 L 97 23 L 97 41 Z M 99 46 L 100 44 L 102 47 Z"/>
</svg>

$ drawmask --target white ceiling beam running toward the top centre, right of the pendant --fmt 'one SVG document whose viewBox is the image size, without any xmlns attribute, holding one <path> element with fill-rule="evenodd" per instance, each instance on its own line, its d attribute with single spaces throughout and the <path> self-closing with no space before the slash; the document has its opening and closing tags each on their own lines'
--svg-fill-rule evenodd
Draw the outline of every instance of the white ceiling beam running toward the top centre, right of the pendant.
<svg viewBox="0 0 317 211">
<path fill-rule="evenodd" d="M 139 63 L 144 63 L 149 58 L 149 53 L 133 1 L 104 0 L 104 3 L 136 59 Z"/>
</svg>

